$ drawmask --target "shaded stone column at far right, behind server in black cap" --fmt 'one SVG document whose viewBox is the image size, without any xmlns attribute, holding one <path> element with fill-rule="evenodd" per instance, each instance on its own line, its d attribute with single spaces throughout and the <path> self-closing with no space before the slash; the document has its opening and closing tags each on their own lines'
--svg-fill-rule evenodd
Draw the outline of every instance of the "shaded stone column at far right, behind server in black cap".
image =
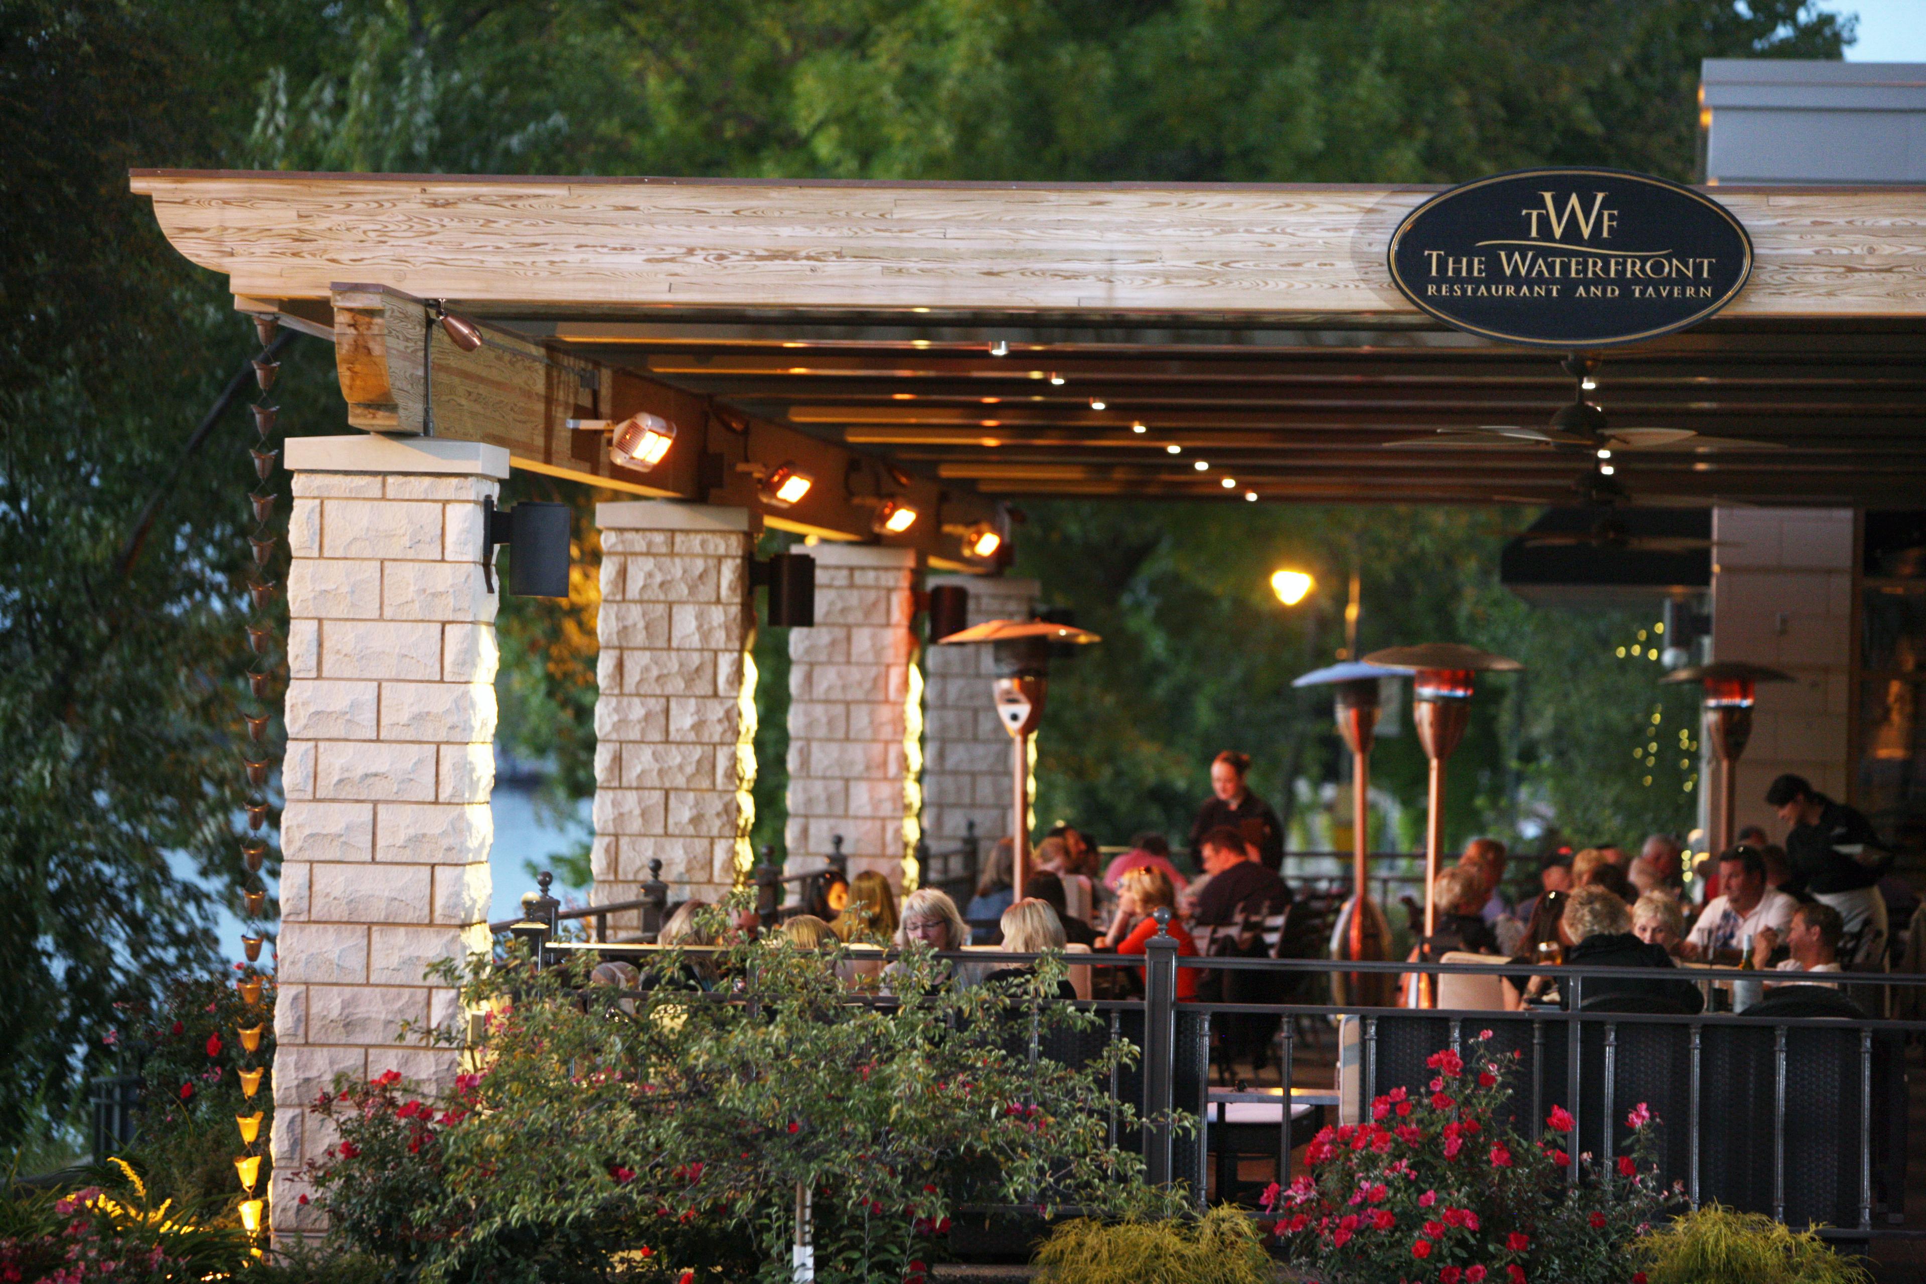
<svg viewBox="0 0 1926 1284">
<path fill-rule="evenodd" d="M 1739 828 L 1778 835 L 1774 776 L 1797 772 L 1835 799 L 1853 785 L 1853 510 L 1714 508 L 1712 539 L 1712 658 L 1797 678 L 1758 685 L 1737 772 Z"/>
</svg>

